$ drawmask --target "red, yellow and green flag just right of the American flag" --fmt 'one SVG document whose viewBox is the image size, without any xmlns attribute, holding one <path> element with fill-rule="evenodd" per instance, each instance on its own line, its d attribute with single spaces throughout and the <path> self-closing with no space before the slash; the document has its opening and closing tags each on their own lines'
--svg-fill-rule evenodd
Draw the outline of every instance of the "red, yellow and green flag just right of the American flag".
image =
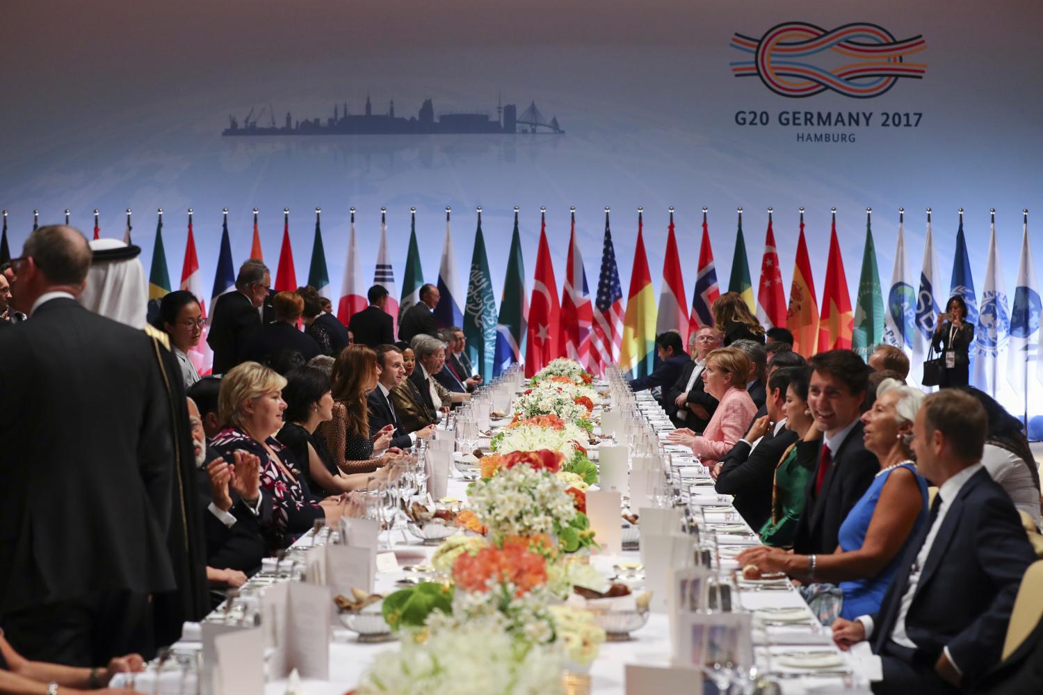
<svg viewBox="0 0 1043 695">
<path fill-rule="evenodd" d="M 620 366 L 634 378 L 652 373 L 655 359 L 655 289 L 652 273 L 645 254 L 645 237 L 641 231 L 642 208 L 637 208 L 637 245 L 634 249 L 634 269 L 630 273 L 630 294 L 627 311 L 623 316 L 623 341 L 620 348 Z"/>
</svg>

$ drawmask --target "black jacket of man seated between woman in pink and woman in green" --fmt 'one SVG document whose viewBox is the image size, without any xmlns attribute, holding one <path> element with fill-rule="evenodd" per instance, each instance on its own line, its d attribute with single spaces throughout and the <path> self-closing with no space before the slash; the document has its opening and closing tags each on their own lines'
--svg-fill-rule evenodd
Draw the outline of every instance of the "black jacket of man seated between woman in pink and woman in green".
<svg viewBox="0 0 1043 695">
<path fill-rule="evenodd" d="M 783 427 L 778 435 L 768 428 L 756 449 L 738 441 L 721 462 L 715 490 L 722 495 L 734 495 L 732 504 L 751 528 L 760 528 L 772 514 L 772 487 L 775 467 L 786 448 L 797 441 L 797 432 Z"/>
</svg>

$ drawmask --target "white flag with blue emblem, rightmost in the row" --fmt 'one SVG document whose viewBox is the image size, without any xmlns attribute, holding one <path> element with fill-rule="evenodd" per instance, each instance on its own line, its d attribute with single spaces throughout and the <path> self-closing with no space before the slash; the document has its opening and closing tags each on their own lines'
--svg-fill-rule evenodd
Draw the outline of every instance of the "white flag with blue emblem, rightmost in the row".
<svg viewBox="0 0 1043 695">
<path fill-rule="evenodd" d="M 1018 283 L 1014 288 L 1014 306 L 1011 309 L 1011 342 L 1006 352 L 1006 378 L 1015 391 L 1022 392 L 1028 401 L 1028 374 L 1043 382 L 1040 363 L 1040 302 L 1036 281 L 1036 264 L 1028 246 L 1028 210 L 1022 213 L 1021 259 L 1018 262 Z M 1035 366 L 1033 365 L 1035 363 Z M 1025 413 L 1026 417 L 1028 413 Z"/>
</svg>

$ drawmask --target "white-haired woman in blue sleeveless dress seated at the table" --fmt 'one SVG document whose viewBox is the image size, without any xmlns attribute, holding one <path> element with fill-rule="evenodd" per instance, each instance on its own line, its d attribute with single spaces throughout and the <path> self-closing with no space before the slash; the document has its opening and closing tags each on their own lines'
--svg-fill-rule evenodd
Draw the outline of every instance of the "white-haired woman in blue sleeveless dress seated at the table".
<svg viewBox="0 0 1043 695">
<path fill-rule="evenodd" d="M 784 572 L 800 579 L 801 593 L 825 624 L 838 615 L 879 610 L 902 551 L 927 521 L 927 482 L 917 475 L 909 449 L 924 395 L 896 379 L 881 381 L 876 394 L 862 421 L 866 448 L 876 454 L 880 472 L 841 526 L 836 550 L 797 555 L 765 546 L 744 553 L 743 562 L 761 574 Z M 843 603 L 836 600 L 842 595 Z"/>
</svg>

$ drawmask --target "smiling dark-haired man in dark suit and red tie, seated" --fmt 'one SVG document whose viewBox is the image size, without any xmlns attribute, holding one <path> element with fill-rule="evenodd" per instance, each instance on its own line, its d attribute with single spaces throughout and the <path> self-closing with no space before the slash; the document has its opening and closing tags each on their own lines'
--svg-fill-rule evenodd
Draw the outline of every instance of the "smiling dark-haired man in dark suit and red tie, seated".
<svg viewBox="0 0 1043 695">
<path fill-rule="evenodd" d="M 803 555 L 836 549 L 841 524 L 880 472 L 876 456 L 863 444 L 866 363 L 851 350 L 829 350 L 809 364 L 807 406 L 815 425 L 797 444 L 797 460 L 815 474 L 794 539 L 794 552 Z"/>
</svg>

